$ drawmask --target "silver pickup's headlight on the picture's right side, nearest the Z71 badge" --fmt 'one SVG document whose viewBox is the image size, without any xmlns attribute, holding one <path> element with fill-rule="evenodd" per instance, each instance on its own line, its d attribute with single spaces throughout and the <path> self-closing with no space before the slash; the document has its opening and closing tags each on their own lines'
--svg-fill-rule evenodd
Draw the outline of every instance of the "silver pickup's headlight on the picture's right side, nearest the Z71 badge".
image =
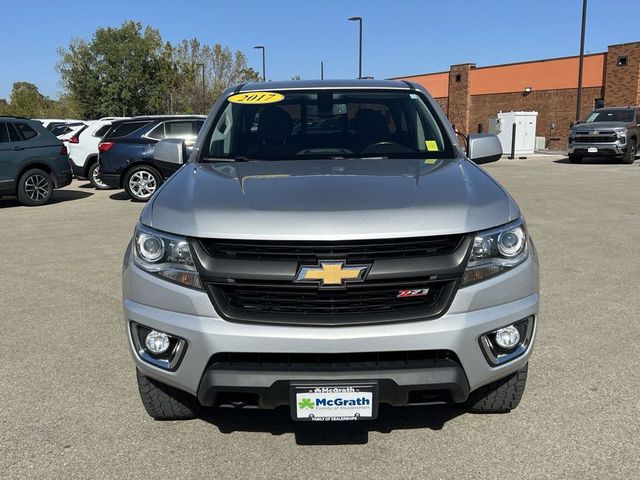
<svg viewBox="0 0 640 480">
<path fill-rule="evenodd" d="M 521 218 L 502 227 L 476 234 L 462 286 L 509 270 L 529 256 L 529 239 Z"/>
</svg>

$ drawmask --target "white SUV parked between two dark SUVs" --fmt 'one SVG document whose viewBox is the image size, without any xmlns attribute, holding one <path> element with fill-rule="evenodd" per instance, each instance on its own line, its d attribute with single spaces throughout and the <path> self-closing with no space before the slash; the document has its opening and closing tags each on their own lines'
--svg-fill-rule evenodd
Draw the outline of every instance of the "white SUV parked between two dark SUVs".
<svg viewBox="0 0 640 480">
<path fill-rule="evenodd" d="M 98 176 L 98 144 L 111 128 L 111 123 L 123 118 L 125 117 L 104 117 L 90 122 L 87 128 L 69 138 L 66 143 L 74 177 L 89 179 L 91 185 L 99 190 L 109 188 Z"/>
</svg>

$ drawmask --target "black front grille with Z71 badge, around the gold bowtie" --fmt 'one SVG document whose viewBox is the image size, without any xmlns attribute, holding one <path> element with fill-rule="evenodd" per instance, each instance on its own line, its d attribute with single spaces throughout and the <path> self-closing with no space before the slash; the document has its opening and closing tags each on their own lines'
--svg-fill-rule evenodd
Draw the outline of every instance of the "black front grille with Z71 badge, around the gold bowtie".
<svg viewBox="0 0 640 480">
<path fill-rule="evenodd" d="M 338 326 L 443 315 L 460 284 L 473 238 L 460 234 L 344 242 L 194 239 L 191 245 L 202 282 L 222 318 Z M 302 266 L 324 261 L 364 265 L 367 273 L 360 281 L 336 287 L 296 281 Z"/>
</svg>

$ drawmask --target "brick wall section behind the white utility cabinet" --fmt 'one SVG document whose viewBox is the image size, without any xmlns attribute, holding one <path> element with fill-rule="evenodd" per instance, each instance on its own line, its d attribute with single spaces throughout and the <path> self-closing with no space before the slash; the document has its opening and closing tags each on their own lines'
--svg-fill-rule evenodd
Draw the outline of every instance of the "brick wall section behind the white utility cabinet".
<svg viewBox="0 0 640 480">
<path fill-rule="evenodd" d="M 581 111 L 586 116 L 594 108 L 596 98 L 602 98 L 602 88 L 584 88 L 582 90 Z M 500 111 L 536 111 L 538 112 L 536 135 L 539 137 L 560 137 L 549 143 L 549 148 L 566 148 L 569 127 L 576 116 L 577 89 L 533 91 L 522 93 L 498 93 L 473 95 L 469 131 L 477 132 L 481 123 L 483 131 L 489 130 L 489 117 L 495 117 Z M 551 123 L 555 129 L 550 130 Z"/>
</svg>

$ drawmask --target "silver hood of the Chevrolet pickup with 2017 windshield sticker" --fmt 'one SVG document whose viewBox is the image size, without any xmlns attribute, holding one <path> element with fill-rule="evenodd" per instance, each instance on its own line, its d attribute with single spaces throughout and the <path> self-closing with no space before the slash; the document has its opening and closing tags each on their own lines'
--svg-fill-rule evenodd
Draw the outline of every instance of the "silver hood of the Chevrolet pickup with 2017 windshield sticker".
<svg viewBox="0 0 640 480">
<path fill-rule="evenodd" d="M 518 218 L 465 159 L 188 163 L 142 213 L 190 237 L 355 240 L 466 233 Z"/>
</svg>

